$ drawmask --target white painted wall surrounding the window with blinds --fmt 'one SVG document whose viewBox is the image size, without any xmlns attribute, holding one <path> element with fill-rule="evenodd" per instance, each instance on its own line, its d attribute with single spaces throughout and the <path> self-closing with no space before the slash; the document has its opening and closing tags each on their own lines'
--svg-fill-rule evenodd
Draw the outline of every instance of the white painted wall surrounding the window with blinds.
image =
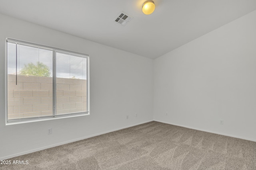
<svg viewBox="0 0 256 170">
<path fill-rule="evenodd" d="M 152 59 L 2 14 L 0 21 L 0 160 L 152 121 Z M 90 55 L 90 115 L 6 125 L 6 38 Z"/>
</svg>

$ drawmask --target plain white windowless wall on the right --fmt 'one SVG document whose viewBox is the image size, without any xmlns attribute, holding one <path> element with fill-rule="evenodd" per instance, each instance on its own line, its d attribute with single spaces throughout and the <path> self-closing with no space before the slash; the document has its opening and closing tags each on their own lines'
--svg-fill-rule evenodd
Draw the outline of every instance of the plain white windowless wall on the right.
<svg viewBox="0 0 256 170">
<path fill-rule="evenodd" d="M 154 60 L 154 120 L 256 141 L 256 11 Z"/>
</svg>

